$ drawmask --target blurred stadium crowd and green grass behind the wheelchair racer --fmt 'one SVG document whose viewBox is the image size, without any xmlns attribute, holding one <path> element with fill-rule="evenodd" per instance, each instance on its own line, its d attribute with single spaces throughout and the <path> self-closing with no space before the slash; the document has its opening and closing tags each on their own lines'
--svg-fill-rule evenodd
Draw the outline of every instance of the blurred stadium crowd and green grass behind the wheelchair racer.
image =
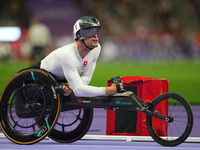
<svg viewBox="0 0 200 150">
<path fill-rule="evenodd" d="M 200 103 L 200 0 L 0 0 L 0 91 L 14 72 L 73 42 L 85 15 L 102 27 L 91 84 L 115 75 L 166 78 L 170 91 Z M 5 27 L 18 27 L 18 38 L 5 38 Z"/>
</svg>

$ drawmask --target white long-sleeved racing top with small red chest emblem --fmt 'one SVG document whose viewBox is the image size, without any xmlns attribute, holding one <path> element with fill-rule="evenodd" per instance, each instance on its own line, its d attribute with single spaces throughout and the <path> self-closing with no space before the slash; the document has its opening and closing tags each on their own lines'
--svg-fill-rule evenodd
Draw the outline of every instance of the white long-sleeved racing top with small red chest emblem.
<svg viewBox="0 0 200 150">
<path fill-rule="evenodd" d="M 58 79 L 66 79 L 78 97 L 105 95 L 105 87 L 89 86 L 101 46 L 91 50 L 84 58 L 78 53 L 76 43 L 58 48 L 46 56 L 40 68 L 54 74 Z"/>
</svg>

